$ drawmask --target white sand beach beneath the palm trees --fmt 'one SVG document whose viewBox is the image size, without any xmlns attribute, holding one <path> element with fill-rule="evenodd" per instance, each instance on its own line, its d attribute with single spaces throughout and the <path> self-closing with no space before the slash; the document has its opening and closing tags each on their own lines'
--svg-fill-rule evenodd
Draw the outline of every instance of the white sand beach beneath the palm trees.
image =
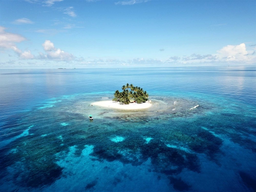
<svg viewBox="0 0 256 192">
<path fill-rule="evenodd" d="M 91 105 L 106 107 L 106 108 L 114 108 L 114 109 L 124 109 L 124 110 L 136 110 L 136 109 L 146 109 L 152 106 L 151 101 L 147 101 L 145 103 L 130 103 L 128 105 L 120 105 L 119 102 L 114 101 L 99 101 L 91 103 Z"/>
</svg>

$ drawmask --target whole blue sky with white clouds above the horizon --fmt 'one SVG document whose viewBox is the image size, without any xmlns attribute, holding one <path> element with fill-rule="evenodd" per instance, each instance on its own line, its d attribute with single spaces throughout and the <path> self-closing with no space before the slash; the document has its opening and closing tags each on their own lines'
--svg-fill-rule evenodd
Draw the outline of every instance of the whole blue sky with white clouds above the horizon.
<svg viewBox="0 0 256 192">
<path fill-rule="evenodd" d="M 0 0 L 0 69 L 250 65 L 255 0 Z"/>
</svg>

